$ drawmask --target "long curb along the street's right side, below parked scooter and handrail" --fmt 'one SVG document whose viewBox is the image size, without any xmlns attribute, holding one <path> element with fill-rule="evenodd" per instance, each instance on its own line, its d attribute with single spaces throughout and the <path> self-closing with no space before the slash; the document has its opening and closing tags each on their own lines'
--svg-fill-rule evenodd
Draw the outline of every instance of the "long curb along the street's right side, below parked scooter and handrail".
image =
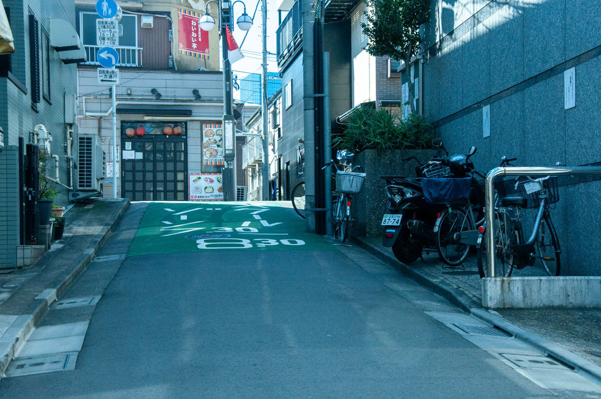
<svg viewBox="0 0 601 399">
<path fill-rule="evenodd" d="M 508 334 L 516 337 L 518 340 L 523 341 L 531 347 L 534 347 L 539 352 L 545 353 L 545 355 L 551 356 L 552 358 L 557 359 L 569 367 L 574 368 L 575 371 L 587 377 L 589 380 L 601 385 L 601 367 L 593 362 L 581 358 L 581 356 L 564 349 L 559 344 L 554 343 L 547 338 L 543 338 L 540 335 L 534 334 L 533 332 L 521 329 L 520 327 L 511 324 L 504 318 L 492 314 L 491 312 L 482 308 L 481 303 L 477 299 L 472 298 L 472 296 L 468 295 L 468 293 L 460 290 L 459 287 L 453 287 L 444 281 L 435 281 L 438 278 L 432 273 L 426 272 L 426 270 L 415 269 L 407 266 L 406 264 L 400 263 L 394 257 L 394 255 L 385 252 L 383 247 L 377 248 L 373 245 L 370 245 L 370 243 L 362 240 L 361 237 L 353 236 L 352 240 L 361 248 L 365 249 L 365 251 L 381 258 L 383 261 L 385 261 L 385 263 L 388 263 L 390 266 L 399 270 L 410 279 L 413 279 L 419 284 L 432 289 L 435 293 L 453 303 L 453 305 L 456 305 L 464 311 L 469 312 L 471 315 L 487 324 L 492 324 L 493 326 L 499 327 Z"/>
</svg>

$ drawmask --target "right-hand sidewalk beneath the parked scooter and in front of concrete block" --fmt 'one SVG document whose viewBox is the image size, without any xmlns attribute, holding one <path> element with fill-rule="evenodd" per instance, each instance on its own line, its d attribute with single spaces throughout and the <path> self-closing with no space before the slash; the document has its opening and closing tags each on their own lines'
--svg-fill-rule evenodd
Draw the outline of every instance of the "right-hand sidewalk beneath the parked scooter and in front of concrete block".
<svg viewBox="0 0 601 399">
<path fill-rule="evenodd" d="M 390 248 L 382 246 L 382 239 L 378 237 L 353 237 L 353 241 L 373 255 L 382 258 L 386 263 L 398 269 L 420 284 L 426 285 L 437 294 L 445 297 L 451 303 L 459 306 L 466 312 L 472 312 L 477 317 L 486 317 L 490 323 L 511 323 L 516 328 L 513 334 L 535 346 L 541 347 L 551 355 L 564 360 L 562 356 L 569 356 L 569 352 L 584 358 L 582 364 L 571 364 L 576 368 L 587 367 L 592 363 L 591 374 L 597 374 L 601 380 L 601 309 L 498 309 L 498 311 L 485 311 L 482 309 L 482 292 L 480 275 L 475 257 L 469 257 L 463 265 L 465 269 L 448 267 L 438 258 L 436 251 L 429 255 L 424 253 L 424 260 L 418 260 L 407 266 L 400 263 L 392 254 Z M 443 265 L 445 267 L 443 267 Z M 532 272 L 532 268 L 516 270 L 514 275 L 525 276 Z M 539 274 L 540 275 L 540 274 Z M 495 320 L 495 315 L 501 316 Z M 511 326 L 511 324 L 509 324 Z M 511 328 L 511 327 L 510 327 Z M 525 330 L 525 331 L 518 331 Z M 532 333 L 528 333 L 532 332 Z M 538 337 L 537 335 L 540 335 Z M 538 337 L 538 338 L 537 338 Z M 542 338 L 542 339 L 540 339 Z M 557 346 L 559 344 L 561 347 Z M 557 350 L 557 353 L 553 351 Z M 560 353 L 561 352 L 561 353 Z M 566 352 L 566 353 L 564 353 Z M 578 361 L 576 359 L 566 361 Z M 569 363 L 570 364 L 570 363 Z"/>
</svg>

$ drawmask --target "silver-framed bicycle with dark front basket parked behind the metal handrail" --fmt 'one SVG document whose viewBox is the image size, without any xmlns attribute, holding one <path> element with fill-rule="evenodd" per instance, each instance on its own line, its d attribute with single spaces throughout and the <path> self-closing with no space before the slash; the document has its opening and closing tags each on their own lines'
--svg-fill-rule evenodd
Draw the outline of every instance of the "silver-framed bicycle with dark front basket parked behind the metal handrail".
<svg viewBox="0 0 601 399">
<path fill-rule="evenodd" d="M 559 201 L 557 177 L 517 178 L 503 181 L 499 194 L 502 198 L 495 206 L 493 228 L 480 227 L 478 236 L 478 272 L 484 278 L 488 273 L 488 252 L 484 235 L 494 234 L 496 275 L 508 277 L 513 269 L 534 266 L 537 261 L 549 276 L 561 272 L 561 248 L 549 206 Z M 535 209 L 532 233 L 524 239 L 523 209 Z"/>
</svg>

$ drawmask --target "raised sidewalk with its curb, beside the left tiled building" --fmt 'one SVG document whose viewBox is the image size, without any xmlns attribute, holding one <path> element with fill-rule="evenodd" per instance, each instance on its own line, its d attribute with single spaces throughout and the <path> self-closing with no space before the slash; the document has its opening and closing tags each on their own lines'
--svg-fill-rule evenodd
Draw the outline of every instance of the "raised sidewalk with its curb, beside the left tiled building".
<svg viewBox="0 0 601 399">
<path fill-rule="evenodd" d="M 129 200 L 94 199 L 66 216 L 63 239 L 31 267 L 0 275 L 0 374 L 49 306 L 90 263 Z"/>
</svg>

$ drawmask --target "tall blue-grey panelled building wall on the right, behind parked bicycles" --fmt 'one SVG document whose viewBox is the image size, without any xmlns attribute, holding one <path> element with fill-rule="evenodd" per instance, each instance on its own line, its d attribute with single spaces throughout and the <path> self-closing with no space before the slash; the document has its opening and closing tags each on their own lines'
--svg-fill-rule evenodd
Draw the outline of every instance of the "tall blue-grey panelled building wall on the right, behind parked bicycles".
<svg viewBox="0 0 601 399">
<path fill-rule="evenodd" d="M 599 48 L 601 10 L 584 0 L 480 3 L 432 1 L 424 113 L 448 149 L 476 145 L 472 159 L 482 171 L 503 155 L 523 166 L 601 161 L 601 58 L 591 51 Z M 576 107 L 564 109 L 564 71 L 572 67 Z M 560 191 L 552 215 L 563 274 L 601 275 L 601 218 L 591 212 L 601 206 L 599 188 L 596 182 Z"/>
</svg>

